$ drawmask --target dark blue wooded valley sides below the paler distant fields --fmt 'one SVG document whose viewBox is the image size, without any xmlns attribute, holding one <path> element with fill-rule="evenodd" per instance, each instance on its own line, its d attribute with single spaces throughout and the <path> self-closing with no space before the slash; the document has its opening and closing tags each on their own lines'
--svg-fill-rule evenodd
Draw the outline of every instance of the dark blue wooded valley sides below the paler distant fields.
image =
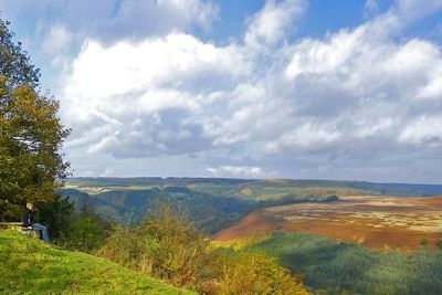
<svg viewBox="0 0 442 295">
<path fill-rule="evenodd" d="M 212 196 L 189 190 L 185 187 L 167 187 L 145 190 L 124 190 L 122 188 L 97 194 L 88 194 L 76 189 L 61 190 L 81 209 L 86 206 L 94 212 L 117 222 L 139 221 L 158 206 L 167 202 L 186 212 L 194 225 L 212 233 L 230 226 L 255 208 L 254 202 L 232 197 Z"/>
</svg>

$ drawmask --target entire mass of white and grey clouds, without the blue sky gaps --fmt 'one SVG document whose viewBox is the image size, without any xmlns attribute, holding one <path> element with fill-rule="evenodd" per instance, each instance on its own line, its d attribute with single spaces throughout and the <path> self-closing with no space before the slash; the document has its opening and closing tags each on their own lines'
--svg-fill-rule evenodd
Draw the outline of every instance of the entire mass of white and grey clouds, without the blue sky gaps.
<svg viewBox="0 0 442 295">
<path fill-rule="evenodd" d="M 441 46 L 401 38 L 439 2 L 398 1 L 359 27 L 290 41 L 307 2 L 269 0 L 243 40 L 219 45 L 189 33 L 217 18 L 210 1 L 123 1 L 65 69 L 67 148 L 122 162 L 193 159 L 225 177 L 265 177 L 272 164 L 280 177 L 403 177 L 407 155 L 442 149 Z M 133 35 L 129 18 L 146 31 Z M 115 31 L 96 33 L 104 28 Z"/>
</svg>

